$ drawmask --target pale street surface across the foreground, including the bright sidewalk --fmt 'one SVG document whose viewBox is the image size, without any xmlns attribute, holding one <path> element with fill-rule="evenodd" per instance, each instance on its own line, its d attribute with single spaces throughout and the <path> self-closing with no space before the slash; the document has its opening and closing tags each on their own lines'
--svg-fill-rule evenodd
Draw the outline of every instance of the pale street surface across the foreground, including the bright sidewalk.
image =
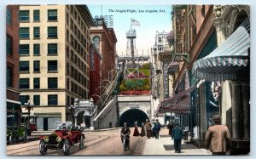
<svg viewBox="0 0 256 159">
<path fill-rule="evenodd" d="M 182 145 L 182 153 L 173 152 L 173 141 L 167 135 L 168 130 L 162 128 L 160 139 L 147 139 L 146 137 L 132 136 L 134 128 L 131 128 L 130 150 L 123 150 L 119 137 L 120 129 L 99 132 L 84 132 L 85 148 L 79 150 L 79 145 L 71 147 L 70 156 L 140 156 L 140 155 L 211 155 L 204 149 L 198 149 L 195 145 Z M 7 145 L 8 156 L 41 156 L 39 140 Z M 64 156 L 63 150 L 47 150 L 45 156 Z"/>
</svg>

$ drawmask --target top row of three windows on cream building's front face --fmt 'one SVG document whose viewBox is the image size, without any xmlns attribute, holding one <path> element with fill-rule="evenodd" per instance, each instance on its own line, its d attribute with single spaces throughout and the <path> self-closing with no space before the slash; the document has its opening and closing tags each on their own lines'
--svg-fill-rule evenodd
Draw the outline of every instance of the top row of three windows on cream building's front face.
<svg viewBox="0 0 256 159">
<path fill-rule="evenodd" d="M 48 9 L 48 19 L 49 21 L 56 21 L 58 20 L 58 12 L 57 9 Z M 22 21 L 29 21 L 30 15 L 29 10 L 20 10 L 19 20 Z M 33 10 L 33 21 L 40 21 L 40 10 Z"/>
</svg>

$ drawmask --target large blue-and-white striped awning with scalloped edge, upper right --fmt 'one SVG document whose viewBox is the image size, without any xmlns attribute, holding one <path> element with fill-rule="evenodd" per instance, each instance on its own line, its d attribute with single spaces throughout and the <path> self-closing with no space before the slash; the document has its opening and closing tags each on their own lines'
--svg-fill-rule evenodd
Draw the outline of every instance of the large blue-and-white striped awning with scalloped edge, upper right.
<svg viewBox="0 0 256 159">
<path fill-rule="evenodd" d="M 224 43 L 201 60 L 195 61 L 192 73 L 206 81 L 237 80 L 249 60 L 249 20 L 245 20 Z M 240 75 L 240 76 L 239 76 Z"/>
</svg>

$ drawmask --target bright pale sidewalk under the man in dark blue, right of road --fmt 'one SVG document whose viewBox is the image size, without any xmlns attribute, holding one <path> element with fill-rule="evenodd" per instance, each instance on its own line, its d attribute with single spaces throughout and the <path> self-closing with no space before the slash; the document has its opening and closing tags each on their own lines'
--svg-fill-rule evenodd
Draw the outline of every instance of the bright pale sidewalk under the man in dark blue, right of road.
<svg viewBox="0 0 256 159">
<path fill-rule="evenodd" d="M 167 128 L 161 128 L 160 139 L 150 138 L 145 142 L 143 155 L 159 155 L 159 156 L 193 156 L 193 155 L 212 155 L 206 149 L 199 149 L 195 145 L 184 143 L 182 140 L 181 153 L 175 153 L 173 140 L 168 135 Z"/>
</svg>

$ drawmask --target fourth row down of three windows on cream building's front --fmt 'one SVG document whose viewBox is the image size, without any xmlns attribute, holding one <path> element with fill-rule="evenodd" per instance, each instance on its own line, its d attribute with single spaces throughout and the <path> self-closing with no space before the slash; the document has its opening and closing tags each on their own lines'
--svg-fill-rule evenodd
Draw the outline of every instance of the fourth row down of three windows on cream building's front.
<svg viewBox="0 0 256 159">
<path fill-rule="evenodd" d="M 33 71 L 40 71 L 40 61 L 33 61 Z M 58 61 L 57 60 L 48 60 L 48 71 L 58 71 Z M 29 71 L 29 61 L 20 61 L 20 71 Z"/>
</svg>

